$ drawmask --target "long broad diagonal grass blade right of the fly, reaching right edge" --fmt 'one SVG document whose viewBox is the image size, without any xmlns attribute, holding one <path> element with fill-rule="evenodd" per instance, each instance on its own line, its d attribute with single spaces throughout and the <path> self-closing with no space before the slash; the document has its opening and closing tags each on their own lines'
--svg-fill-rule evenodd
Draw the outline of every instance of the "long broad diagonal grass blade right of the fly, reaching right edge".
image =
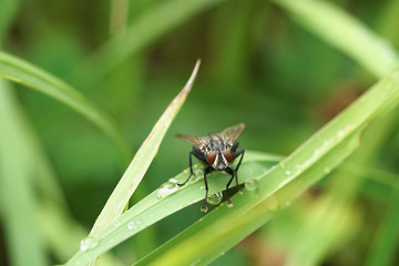
<svg viewBox="0 0 399 266">
<path fill-rule="evenodd" d="M 212 262 L 336 167 L 356 149 L 365 126 L 398 104 L 399 71 L 395 71 L 260 177 L 253 198 L 249 193 L 235 196 L 232 211 L 217 208 L 208 215 L 214 218 L 197 222 L 136 265 Z"/>
</svg>

